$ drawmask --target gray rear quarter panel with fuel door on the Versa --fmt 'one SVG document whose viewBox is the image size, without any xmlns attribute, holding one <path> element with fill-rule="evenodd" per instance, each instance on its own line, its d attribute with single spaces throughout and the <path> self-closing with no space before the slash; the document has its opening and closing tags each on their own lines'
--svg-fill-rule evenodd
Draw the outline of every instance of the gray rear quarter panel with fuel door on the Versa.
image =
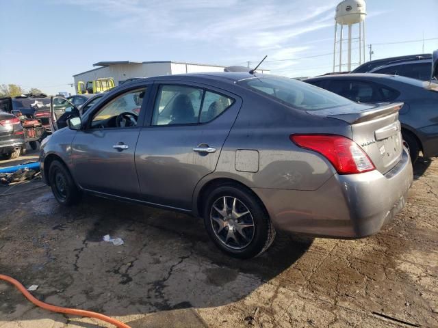
<svg viewBox="0 0 438 328">
<path fill-rule="evenodd" d="M 242 109 L 224 143 L 216 171 L 201 186 L 214 178 L 231 178 L 250 188 L 315 190 L 335 174 L 324 156 L 299 148 L 289 135 L 333 133 L 351 137 L 346 122 L 318 118 L 249 91 L 241 96 Z M 242 171 L 242 163 L 236 169 L 238 150 L 258 152 L 257 172 L 252 162 L 248 162 L 248 172 Z M 249 154 L 248 161 L 255 161 L 257 156 Z"/>
</svg>

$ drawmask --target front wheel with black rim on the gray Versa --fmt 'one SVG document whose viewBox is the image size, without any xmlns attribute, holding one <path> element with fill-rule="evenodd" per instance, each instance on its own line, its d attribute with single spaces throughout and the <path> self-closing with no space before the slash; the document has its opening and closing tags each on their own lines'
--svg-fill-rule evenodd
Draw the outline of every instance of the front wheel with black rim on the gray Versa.
<svg viewBox="0 0 438 328">
<path fill-rule="evenodd" d="M 81 200 L 81 191 L 60 161 L 53 161 L 49 167 L 49 184 L 55 199 L 61 205 L 70 206 Z"/>
</svg>

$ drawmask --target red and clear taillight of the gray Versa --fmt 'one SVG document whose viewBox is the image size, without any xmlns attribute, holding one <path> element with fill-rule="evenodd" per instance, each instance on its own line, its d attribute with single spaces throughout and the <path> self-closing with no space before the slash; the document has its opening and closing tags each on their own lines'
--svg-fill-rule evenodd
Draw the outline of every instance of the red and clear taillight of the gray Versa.
<svg viewBox="0 0 438 328">
<path fill-rule="evenodd" d="M 357 174 L 376 169 L 357 143 L 342 135 L 290 135 L 290 139 L 301 148 L 324 155 L 339 174 Z"/>
</svg>

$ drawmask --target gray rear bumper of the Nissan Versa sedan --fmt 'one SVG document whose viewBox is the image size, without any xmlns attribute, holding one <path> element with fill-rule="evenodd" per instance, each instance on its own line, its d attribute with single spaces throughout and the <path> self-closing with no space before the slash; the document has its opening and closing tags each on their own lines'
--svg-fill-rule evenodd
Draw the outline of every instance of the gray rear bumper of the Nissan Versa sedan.
<svg viewBox="0 0 438 328">
<path fill-rule="evenodd" d="M 313 236 L 361 238 L 375 234 L 403 208 L 413 181 L 411 159 L 402 159 L 387 174 L 335 174 L 315 191 L 258 189 L 279 230 Z"/>
</svg>

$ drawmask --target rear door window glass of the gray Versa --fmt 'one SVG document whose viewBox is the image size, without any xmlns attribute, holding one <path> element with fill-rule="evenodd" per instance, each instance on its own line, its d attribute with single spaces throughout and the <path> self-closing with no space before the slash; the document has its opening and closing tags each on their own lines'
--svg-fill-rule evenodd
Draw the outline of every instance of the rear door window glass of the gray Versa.
<svg viewBox="0 0 438 328">
<path fill-rule="evenodd" d="M 233 99 L 188 85 L 160 85 L 152 125 L 197 124 L 218 117 Z"/>
</svg>

